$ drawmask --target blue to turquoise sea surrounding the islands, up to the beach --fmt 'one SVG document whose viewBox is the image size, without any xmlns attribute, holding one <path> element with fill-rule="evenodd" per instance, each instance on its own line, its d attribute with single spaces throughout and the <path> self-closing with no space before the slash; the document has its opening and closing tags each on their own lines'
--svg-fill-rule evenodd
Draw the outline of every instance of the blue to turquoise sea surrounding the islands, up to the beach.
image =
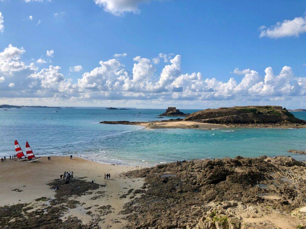
<svg viewBox="0 0 306 229">
<path fill-rule="evenodd" d="M 57 112 L 56 112 L 57 111 Z M 0 157 L 15 152 L 17 139 L 25 153 L 28 141 L 35 155 L 74 155 L 103 163 L 154 165 L 199 158 L 305 155 L 288 153 L 306 148 L 306 129 L 144 129 L 99 121 L 152 121 L 164 109 L 105 108 L 0 109 Z M 181 110 L 192 113 L 197 110 Z M 293 112 L 306 120 L 306 112 Z M 168 118 L 164 118 L 168 119 Z"/>
</svg>

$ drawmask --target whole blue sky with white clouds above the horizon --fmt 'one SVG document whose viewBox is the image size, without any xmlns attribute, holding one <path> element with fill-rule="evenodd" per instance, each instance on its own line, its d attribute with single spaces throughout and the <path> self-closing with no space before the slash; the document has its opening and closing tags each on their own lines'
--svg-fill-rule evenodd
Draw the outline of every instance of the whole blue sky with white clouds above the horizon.
<svg viewBox="0 0 306 229">
<path fill-rule="evenodd" d="M 306 108 L 306 1 L 0 0 L 0 104 Z"/>
</svg>

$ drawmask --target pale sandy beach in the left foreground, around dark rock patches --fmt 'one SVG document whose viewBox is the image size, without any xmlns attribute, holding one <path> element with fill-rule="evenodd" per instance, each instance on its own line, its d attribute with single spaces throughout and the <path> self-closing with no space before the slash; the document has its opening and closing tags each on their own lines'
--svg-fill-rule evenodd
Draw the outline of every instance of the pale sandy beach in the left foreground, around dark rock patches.
<svg viewBox="0 0 306 229">
<path fill-rule="evenodd" d="M 137 190 L 143 186 L 143 179 L 131 179 L 120 174 L 138 167 L 100 164 L 82 158 L 52 157 L 50 161 L 43 157 L 39 162 L 27 163 L 6 159 L 0 164 L 1 187 L 0 206 L 31 203 L 33 209 L 44 209 L 48 203 L 46 199 L 54 199 L 55 191 L 47 183 L 60 178 L 65 171 L 73 171 L 74 179 L 84 181 L 95 180 L 100 184 L 98 189 L 85 195 L 72 196 L 69 199 L 82 203 L 76 208 L 69 208 L 61 217 L 63 221 L 69 216 L 76 216 L 82 224 L 97 222 L 101 228 L 120 228 L 125 221 L 118 213 L 123 205 L 130 200 L 130 196 L 140 194 L 130 193 L 120 198 L 130 189 Z M 104 173 L 110 173 L 111 179 L 105 180 Z M 5 184 L 5 185 L 3 185 Z M 45 197 L 44 201 L 35 199 Z M 110 205 L 110 206 L 109 206 Z M 103 216 L 98 210 L 107 206 Z M 29 212 L 33 211 L 29 210 Z M 90 211 L 91 213 L 88 213 Z M 87 213 L 87 214 L 86 214 Z M 105 214 L 106 213 L 106 214 Z"/>
</svg>

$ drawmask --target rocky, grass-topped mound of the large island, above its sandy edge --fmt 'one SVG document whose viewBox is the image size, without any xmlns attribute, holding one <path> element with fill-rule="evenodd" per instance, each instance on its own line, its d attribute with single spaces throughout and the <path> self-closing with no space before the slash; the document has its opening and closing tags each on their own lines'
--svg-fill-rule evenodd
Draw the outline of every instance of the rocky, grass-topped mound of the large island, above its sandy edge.
<svg viewBox="0 0 306 229">
<path fill-rule="evenodd" d="M 192 113 L 184 120 L 215 124 L 277 124 L 306 127 L 306 121 L 295 118 L 293 114 L 280 106 L 221 107 Z M 259 126 L 258 126 L 259 127 Z M 295 127 L 296 128 L 296 127 Z"/>
</svg>

